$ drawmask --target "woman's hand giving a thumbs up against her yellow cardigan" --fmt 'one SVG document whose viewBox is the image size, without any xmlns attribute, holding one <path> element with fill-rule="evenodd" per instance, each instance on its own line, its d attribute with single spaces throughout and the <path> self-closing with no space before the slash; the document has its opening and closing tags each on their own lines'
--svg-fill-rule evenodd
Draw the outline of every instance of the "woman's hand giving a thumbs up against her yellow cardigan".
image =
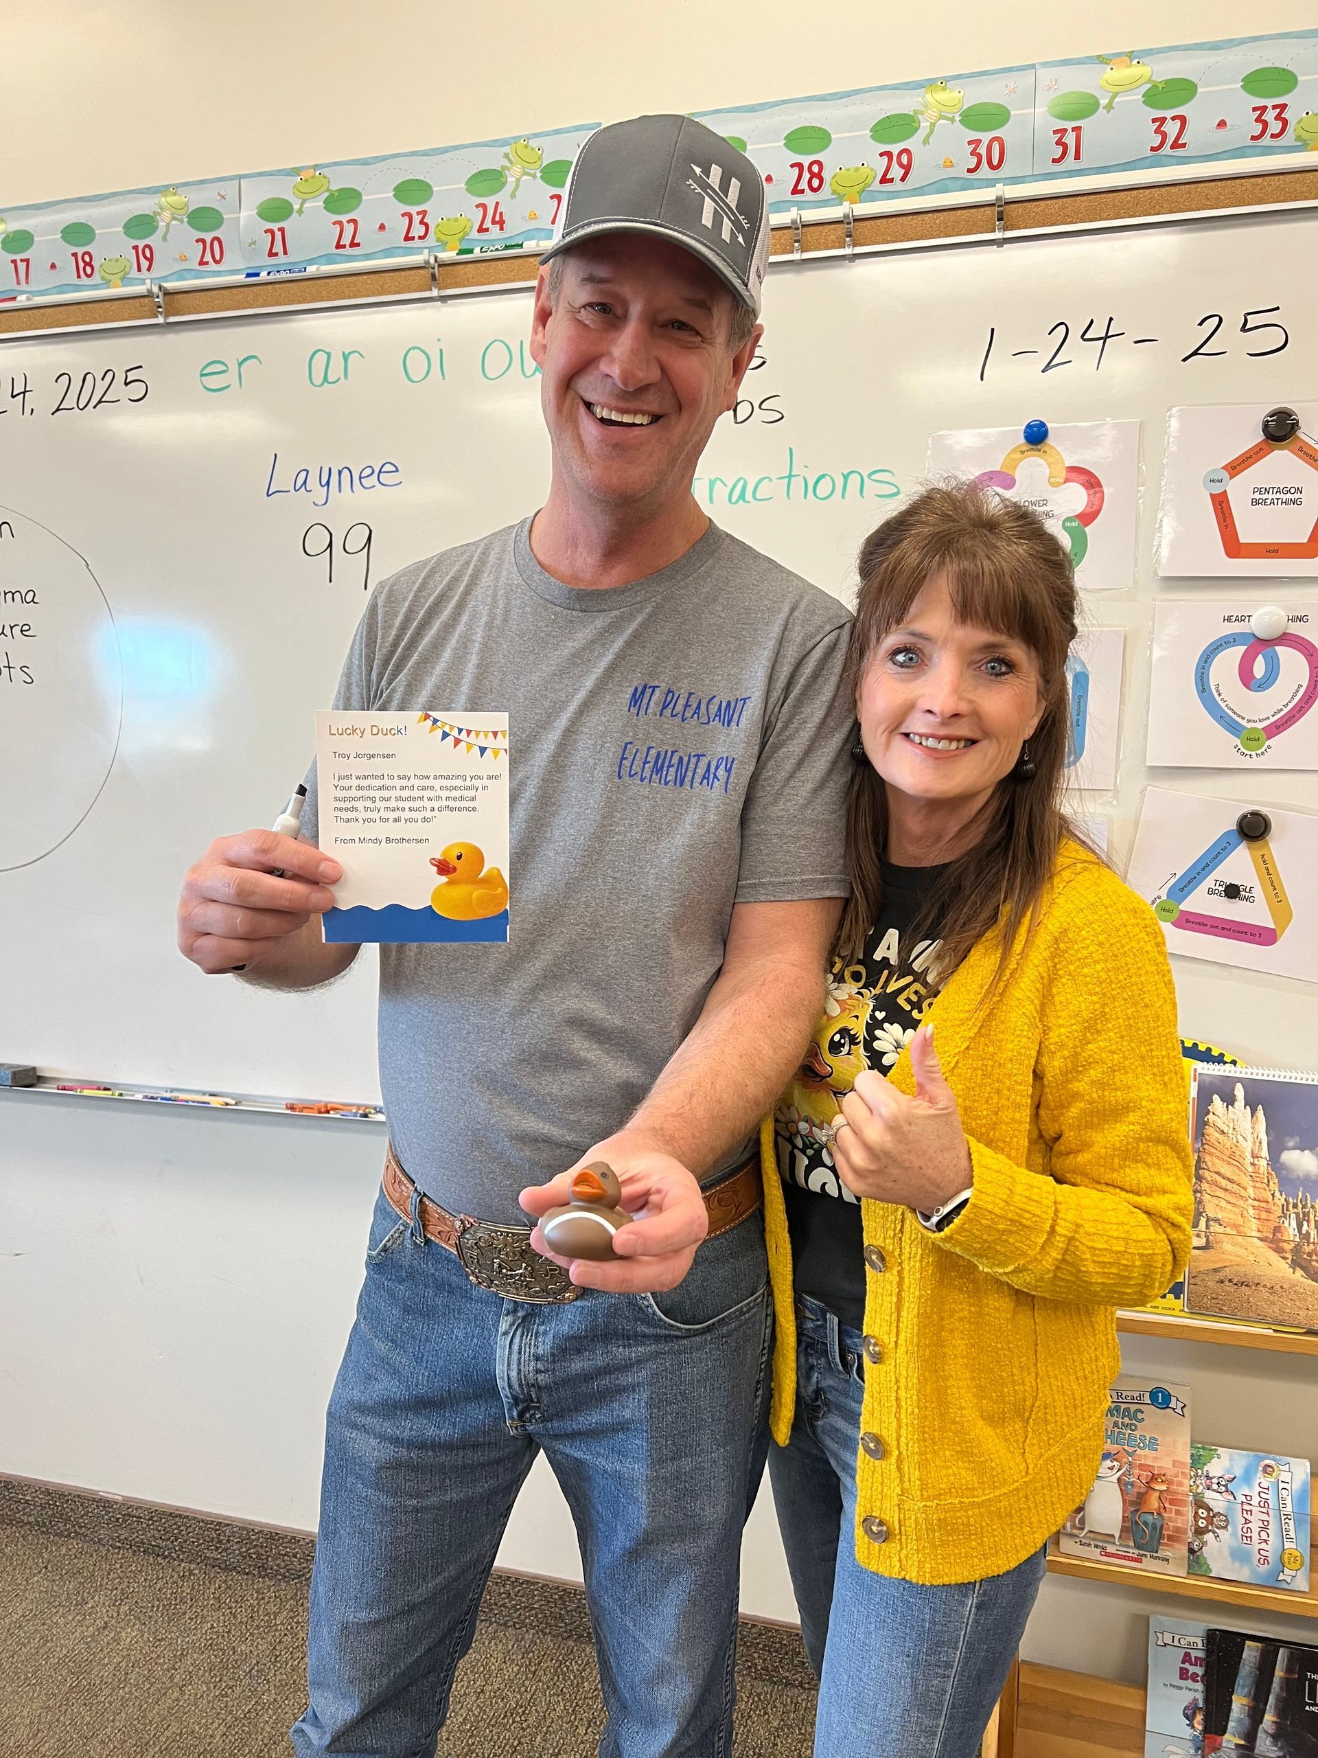
<svg viewBox="0 0 1318 1758">
<path fill-rule="evenodd" d="M 856 1078 L 842 1101 L 833 1159 L 842 1183 L 858 1197 L 928 1213 L 970 1188 L 970 1143 L 933 1048 L 931 1025 L 912 1037 L 910 1067 L 914 1097 L 898 1092 L 877 1069 Z"/>
</svg>

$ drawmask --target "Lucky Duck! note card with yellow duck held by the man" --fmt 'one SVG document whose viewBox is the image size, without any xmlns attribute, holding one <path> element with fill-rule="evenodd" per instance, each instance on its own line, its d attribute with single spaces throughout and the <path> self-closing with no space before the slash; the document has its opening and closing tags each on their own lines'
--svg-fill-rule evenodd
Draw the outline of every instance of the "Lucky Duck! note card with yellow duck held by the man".
<svg viewBox="0 0 1318 1758">
<path fill-rule="evenodd" d="M 508 941 L 508 716 L 316 716 L 327 941 Z"/>
</svg>

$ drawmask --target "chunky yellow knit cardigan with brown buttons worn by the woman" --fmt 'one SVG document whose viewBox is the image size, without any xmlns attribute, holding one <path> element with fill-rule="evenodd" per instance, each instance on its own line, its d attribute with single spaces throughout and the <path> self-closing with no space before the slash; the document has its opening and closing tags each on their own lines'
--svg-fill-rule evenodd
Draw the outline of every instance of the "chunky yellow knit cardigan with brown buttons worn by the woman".
<svg viewBox="0 0 1318 1758">
<path fill-rule="evenodd" d="M 858 1454 L 856 1556 L 902 1580 L 998 1575 L 1084 1500 L 1119 1369 L 1116 1308 L 1162 1294 L 1190 1253 L 1186 1083 L 1153 911 L 1063 844 L 989 995 L 998 948 L 998 930 L 979 941 L 928 1016 L 970 1141 L 970 1202 L 942 1234 L 907 1208 L 861 1206 L 880 1352 L 861 1433 L 882 1457 Z M 914 1092 L 907 1053 L 889 1079 Z M 796 1318 L 771 1120 L 761 1155 L 786 1445 Z"/>
</svg>

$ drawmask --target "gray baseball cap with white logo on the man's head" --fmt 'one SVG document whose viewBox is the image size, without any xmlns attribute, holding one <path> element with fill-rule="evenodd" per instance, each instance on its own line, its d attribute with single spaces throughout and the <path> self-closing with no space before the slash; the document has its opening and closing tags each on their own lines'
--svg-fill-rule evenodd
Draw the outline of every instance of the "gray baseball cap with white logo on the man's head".
<svg viewBox="0 0 1318 1758">
<path fill-rule="evenodd" d="M 699 257 L 759 316 L 770 253 L 764 179 L 691 116 L 633 116 L 585 141 L 541 262 L 606 232 L 654 232 Z"/>
</svg>

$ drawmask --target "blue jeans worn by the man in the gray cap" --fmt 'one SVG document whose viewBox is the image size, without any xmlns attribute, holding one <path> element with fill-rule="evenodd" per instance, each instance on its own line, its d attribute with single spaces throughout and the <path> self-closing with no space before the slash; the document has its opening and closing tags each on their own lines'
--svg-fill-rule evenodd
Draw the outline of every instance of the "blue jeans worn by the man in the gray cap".
<svg viewBox="0 0 1318 1758">
<path fill-rule="evenodd" d="M 601 1758 L 731 1753 L 766 1283 L 754 1215 L 668 1294 L 510 1301 L 473 1287 L 381 1194 L 325 1424 L 299 1758 L 431 1758 L 541 1449 L 582 1544 Z"/>
</svg>

